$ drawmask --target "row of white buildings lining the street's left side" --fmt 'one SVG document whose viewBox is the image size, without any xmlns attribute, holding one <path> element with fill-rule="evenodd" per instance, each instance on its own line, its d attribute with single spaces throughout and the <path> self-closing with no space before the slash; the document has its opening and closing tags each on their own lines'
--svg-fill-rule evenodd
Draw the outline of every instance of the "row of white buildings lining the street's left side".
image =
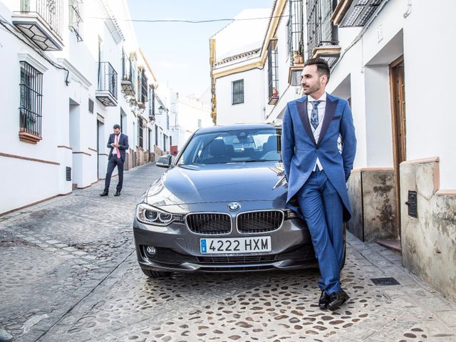
<svg viewBox="0 0 456 342">
<path fill-rule="evenodd" d="M 125 169 L 150 160 L 156 80 L 125 19 L 125 0 L 0 3 L 0 214 L 105 177 L 116 123 L 130 142 Z"/>
</svg>

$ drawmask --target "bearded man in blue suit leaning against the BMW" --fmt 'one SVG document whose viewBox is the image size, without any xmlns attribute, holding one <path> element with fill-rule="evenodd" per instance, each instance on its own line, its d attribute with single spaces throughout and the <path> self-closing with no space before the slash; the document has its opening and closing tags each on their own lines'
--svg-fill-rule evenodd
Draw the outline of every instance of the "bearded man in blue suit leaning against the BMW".
<svg viewBox="0 0 456 342">
<path fill-rule="evenodd" d="M 349 298 L 341 289 L 340 270 L 343 222 L 351 217 L 346 182 L 356 137 L 348 102 L 325 92 L 329 72 L 322 58 L 304 63 L 301 86 L 305 95 L 286 106 L 281 150 L 289 183 L 287 206 L 306 220 L 318 259 L 318 306 L 335 310 Z"/>
</svg>

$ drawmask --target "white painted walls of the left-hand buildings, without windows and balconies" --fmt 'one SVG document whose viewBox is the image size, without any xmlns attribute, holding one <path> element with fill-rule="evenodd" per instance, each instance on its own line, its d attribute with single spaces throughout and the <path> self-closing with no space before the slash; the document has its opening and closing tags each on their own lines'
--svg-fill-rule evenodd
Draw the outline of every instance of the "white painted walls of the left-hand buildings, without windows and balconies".
<svg viewBox="0 0 456 342">
<path fill-rule="evenodd" d="M 33 3 L 33 1 L 31 1 Z M 56 195 L 65 195 L 73 187 L 84 188 L 105 177 L 109 149 L 108 137 L 113 125 L 123 126 L 123 133 L 130 142 L 129 154 L 133 153 L 138 138 L 138 115 L 152 126 L 147 115 L 147 103 L 142 112 L 138 106 L 130 106 L 129 98 L 121 92 L 122 51 L 136 53 L 138 66 L 146 68 L 150 83 L 156 80 L 141 57 L 130 21 L 125 0 L 84 1 L 83 41 L 68 28 L 68 0 L 61 0 L 63 9 L 61 51 L 42 51 L 28 46 L 24 34 L 14 26 L 15 11 L 20 0 L 0 3 L 0 60 L 3 66 L 3 82 L 0 100 L 4 115 L 0 115 L 0 127 L 4 144 L 0 147 L 0 214 L 24 207 Z M 93 17 L 110 18 L 109 20 Z M 46 61 L 46 56 L 54 64 Z M 98 58 L 109 62 L 118 74 L 117 100 L 114 106 L 105 106 L 97 99 Z M 19 140 L 19 102 L 21 61 L 43 73 L 41 140 L 36 144 Z M 166 97 L 166 91 L 159 96 Z M 89 111 L 89 99 L 93 101 L 93 113 Z M 158 122 L 162 127 L 162 121 Z M 163 130 L 163 128 L 162 128 Z M 170 135 L 169 130 L 164 129 Z M 144 146 L 147 150 L 147 137 Z M 125 168 L 133 167 L 126 161 Z M 66 168 L 71 167 L 71 180 L 66 180 Z M 127 185 L 128 186 L 128 185 Z"/>
</svg>

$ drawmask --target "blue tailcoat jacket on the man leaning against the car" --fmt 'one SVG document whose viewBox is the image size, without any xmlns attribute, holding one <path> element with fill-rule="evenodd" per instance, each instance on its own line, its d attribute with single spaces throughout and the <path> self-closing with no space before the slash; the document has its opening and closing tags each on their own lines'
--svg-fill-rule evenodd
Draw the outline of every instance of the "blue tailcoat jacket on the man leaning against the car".
<svg viewBox="0 0 456 342">
<path fill-rule="evenodd" d="M 342 137 L 342 154 L 338 150 L 337 140 Z M 346 181 L 350 176 L 356 152 L 355 128 L 348 101 L 327 94 L 326 110 L 321 133 L 315 141 L 307 113 L 307 96 L 287 104 L 283 119 L 281 137 L 282 159 L 286 179 L 288 180 L 287 206 L 295 211 L 298 208 L 290 204 L 309 178 L 314 169 L 316 158 L 321 162 L 328 180 L 341 196 L 344 222 L 351 217 Z"/>
</svg>

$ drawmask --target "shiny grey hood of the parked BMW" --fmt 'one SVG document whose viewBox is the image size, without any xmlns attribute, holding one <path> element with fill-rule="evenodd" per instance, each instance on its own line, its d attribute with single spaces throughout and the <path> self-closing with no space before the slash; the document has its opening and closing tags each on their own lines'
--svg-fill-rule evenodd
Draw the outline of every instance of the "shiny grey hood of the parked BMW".
<svg viewBox="0 0 456 342">
<path fill-rule="evenodd" d="M 147 190 L 147 203 L 156 207 L 209 202 L 278 201 L 285 204 L 279 162 L 180 165 L 167 170 Z"/>
</svg>

